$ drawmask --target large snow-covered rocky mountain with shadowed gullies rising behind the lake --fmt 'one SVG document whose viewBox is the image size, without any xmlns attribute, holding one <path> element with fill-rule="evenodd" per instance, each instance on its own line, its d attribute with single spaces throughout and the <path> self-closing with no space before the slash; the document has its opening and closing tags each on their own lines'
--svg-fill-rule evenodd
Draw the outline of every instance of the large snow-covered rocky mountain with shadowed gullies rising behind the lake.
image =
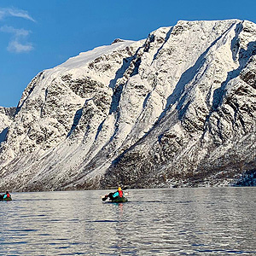
<svg viewBox="0 0 256 256">
<path fill-rule="evenodd" d="M 0 189 L 218 185 L 254 175 L 255 76 L 256 25 L 247 20 L 181 20 L 81 53 L 32 79 L 14 120 L 0 126 Z"/>
</svg>

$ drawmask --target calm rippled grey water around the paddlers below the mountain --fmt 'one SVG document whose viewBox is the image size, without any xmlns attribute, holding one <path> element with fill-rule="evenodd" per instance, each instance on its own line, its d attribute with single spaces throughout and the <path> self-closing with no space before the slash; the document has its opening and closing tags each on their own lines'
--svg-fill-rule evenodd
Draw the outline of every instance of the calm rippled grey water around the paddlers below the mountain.
<svg viewBox="0 0 256 256">
<path fill-rule="evenodd" d="M 256 255 L 256 188 L 16 193 L 0 255 Z"/>
</svg>

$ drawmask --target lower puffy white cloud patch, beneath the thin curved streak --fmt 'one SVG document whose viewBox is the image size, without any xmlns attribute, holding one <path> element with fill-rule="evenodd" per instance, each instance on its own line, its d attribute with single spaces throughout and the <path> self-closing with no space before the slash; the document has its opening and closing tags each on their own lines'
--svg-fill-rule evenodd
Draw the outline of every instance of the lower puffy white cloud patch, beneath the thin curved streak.
<svg viewBox="0 0 256 256">
<path fill-rule="evenodd" d="M 26 37 L 31 33 L 31 31 L 23 28 L 17 29 L 13 26 L 1 26 L 0 32 L 7 32 L 13 35 L 7 47 L 10 52 L 22 53 L 29 52 L 34 49 L 31 43 L 22 44 L 20 42 L 22 40 L 25 40 Z"/>
</svg>

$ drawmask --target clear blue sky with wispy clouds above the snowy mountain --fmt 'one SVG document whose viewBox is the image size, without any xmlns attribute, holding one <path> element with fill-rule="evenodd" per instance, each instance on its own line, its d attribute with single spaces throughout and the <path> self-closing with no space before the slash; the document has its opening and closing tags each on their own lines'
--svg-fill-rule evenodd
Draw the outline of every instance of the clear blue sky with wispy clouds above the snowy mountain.
<svg viewBox="0 0 256 256">
<path fill-rule="evenodd" d="M 256 22 L 255 9 L 255 0 L 1 1 L 0 106 L 15 107 L 40 71 L 115 38 L 143 39 L 177 20 Z"/>
</svg>

